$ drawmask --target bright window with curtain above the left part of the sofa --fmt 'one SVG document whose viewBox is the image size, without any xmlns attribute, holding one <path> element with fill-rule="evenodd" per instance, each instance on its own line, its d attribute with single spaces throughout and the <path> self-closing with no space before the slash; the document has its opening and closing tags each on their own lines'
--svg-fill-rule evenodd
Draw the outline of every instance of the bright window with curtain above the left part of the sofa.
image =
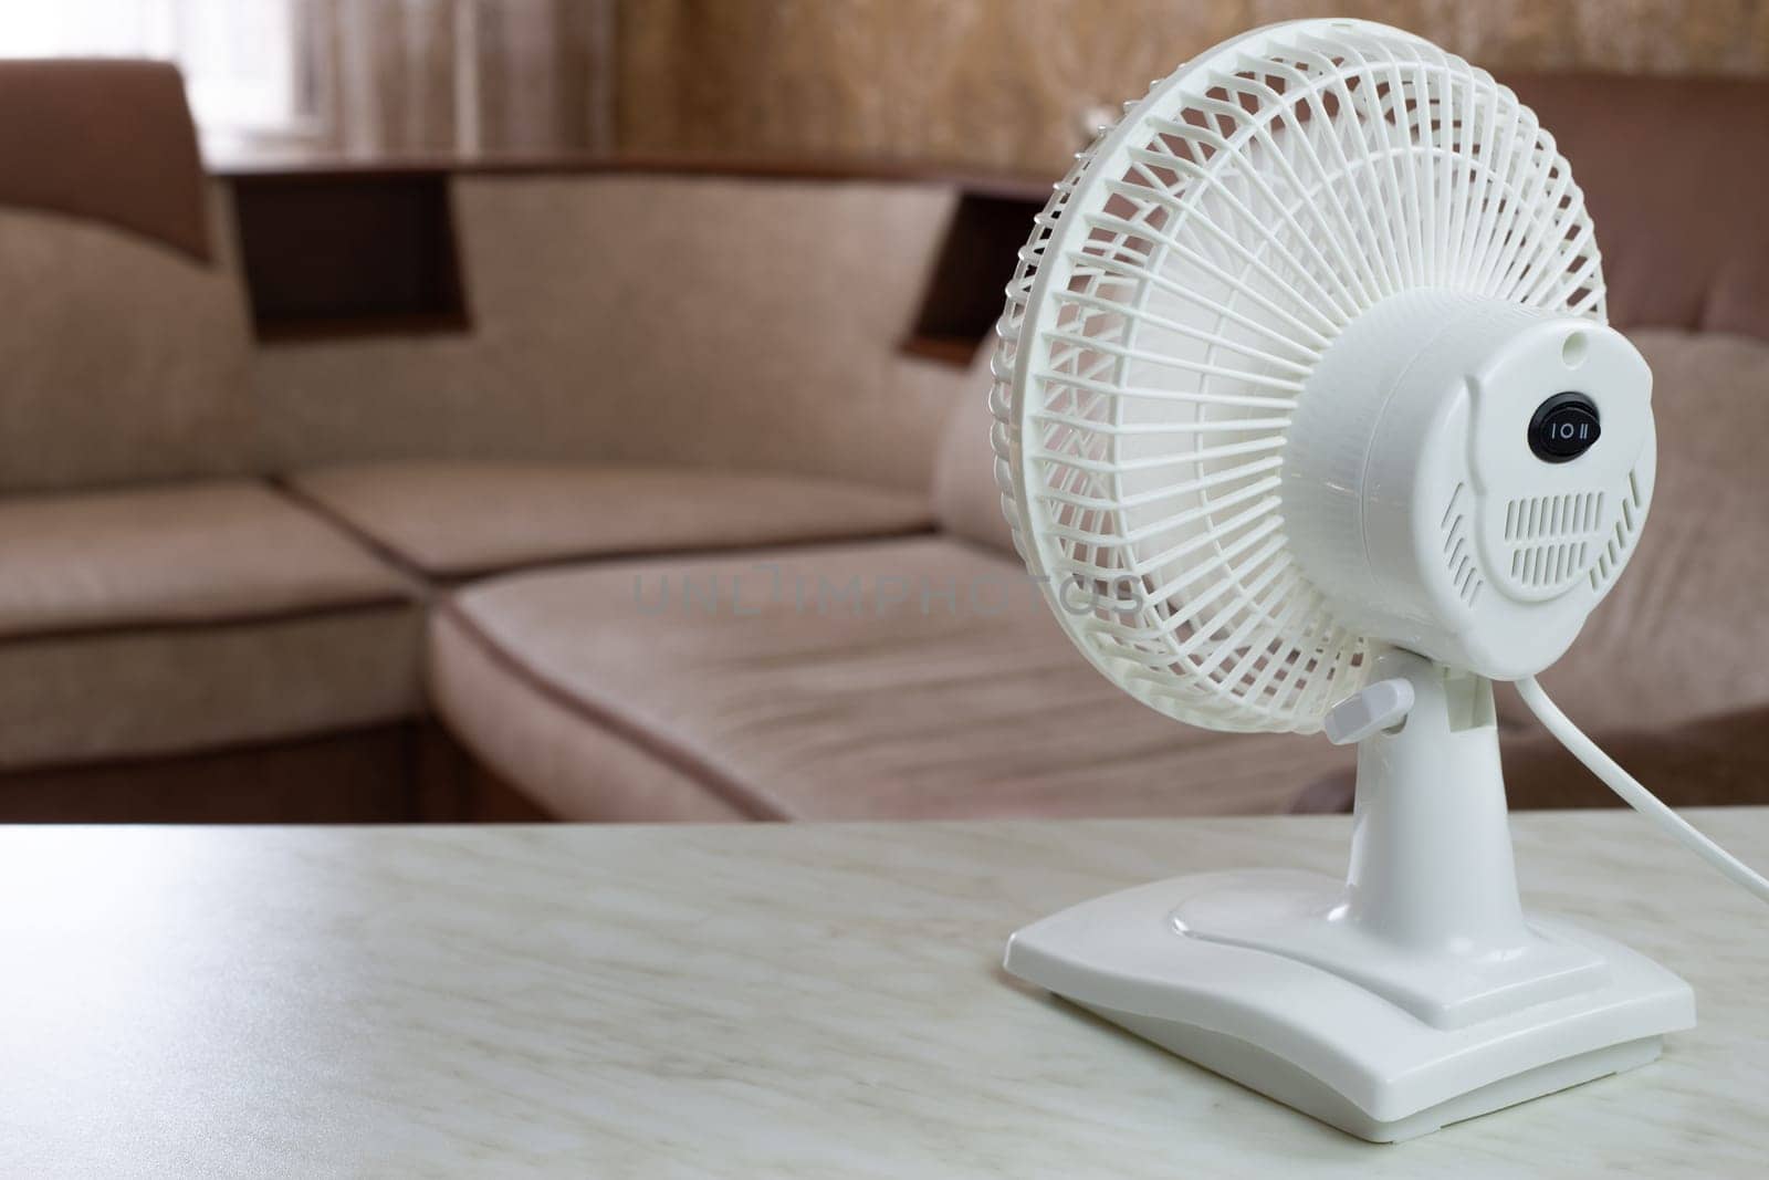
<svg viewBox="0 0 1769 1180">
<path fill-rule="evenodd" d="M 179 62 L 212 163 L 612 149 L 617 0 L 55 0 L 5 57 Z"/>
</svg>

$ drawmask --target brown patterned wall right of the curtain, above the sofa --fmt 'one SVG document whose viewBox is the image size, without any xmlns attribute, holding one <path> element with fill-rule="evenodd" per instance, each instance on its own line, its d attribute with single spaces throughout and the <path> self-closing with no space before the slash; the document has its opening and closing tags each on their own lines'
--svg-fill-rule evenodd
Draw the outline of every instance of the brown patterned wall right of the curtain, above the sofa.
<svg viewBox="0 0 1769 1180">
<path fill-rule="evenodd" d="M 1769 73 L 1769 0 L 621 0 L 616 140 L 1053 173 L 1192 53 L 1314 14 L 1401 25 L 1495 73 Z"/>
</svg>

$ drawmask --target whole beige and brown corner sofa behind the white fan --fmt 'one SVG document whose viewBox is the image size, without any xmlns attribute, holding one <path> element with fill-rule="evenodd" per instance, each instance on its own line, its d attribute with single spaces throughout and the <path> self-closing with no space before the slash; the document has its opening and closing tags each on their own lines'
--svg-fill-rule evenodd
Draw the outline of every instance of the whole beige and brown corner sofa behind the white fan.
<svg viewBox="0 0 1769 1180">
<path fill-rule="evenodd" d="M 460 175 L 471 331 L 258 343 L 175 76 L 0 67 L 34 127 L 90 119 L 92 87 L 134 150 L 0 122 L 39 175 L 0 177 L 0 819 L 1344 801 L 1348 752 L 1173 725 L 1035 600 L 980 372 L 899 349 L 950 186 Z M 1769 345 L 1737 333 L 1762 308 L 1732 255 L 1700 264 L 1725 299 L 1666 304 L 1631 276 L 1672 248 L 1604 246 L 1617 320 L 1640 290 L 1670 324 L 1638 333 L 1661 488 L 1548 683 L 1640 759 L 1705 768 L 1673 796 L 1758 798 L 1769 632 L 1737 538 L 1769 536 Z M 1691 331 L 1716 308 L 1730 333 Z M 1516 801 L 1592 798 L 1511 704 Z"/>
</svg>

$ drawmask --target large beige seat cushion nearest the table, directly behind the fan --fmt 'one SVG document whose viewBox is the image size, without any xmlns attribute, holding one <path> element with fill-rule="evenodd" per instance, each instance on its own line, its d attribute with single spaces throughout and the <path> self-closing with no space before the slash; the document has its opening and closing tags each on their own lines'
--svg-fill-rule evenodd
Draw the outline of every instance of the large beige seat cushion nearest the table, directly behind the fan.
<svg viewBox="0 0 1769 1180">
<path fill-rule="evenodd" d="M 1143 708 L 943 538 L 506 577 L 428 651 L 456 734 L 568 819 L 1274 812 L 1350 759 Z"/>
</svg>

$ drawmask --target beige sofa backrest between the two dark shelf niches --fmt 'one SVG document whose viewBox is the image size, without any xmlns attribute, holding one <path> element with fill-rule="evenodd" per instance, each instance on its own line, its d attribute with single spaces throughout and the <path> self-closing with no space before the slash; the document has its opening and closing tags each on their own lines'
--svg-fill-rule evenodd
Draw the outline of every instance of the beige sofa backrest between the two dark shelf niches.
<svg viewBox="0 0 1769 1180">
<path fill-rule="evenodd" d="M 685 462 L 925 492 L 962 370 L 904 356 L 953 193 L 460 175 L 469 333 L 260 349 L 272 465 Z"/>
</svg>

